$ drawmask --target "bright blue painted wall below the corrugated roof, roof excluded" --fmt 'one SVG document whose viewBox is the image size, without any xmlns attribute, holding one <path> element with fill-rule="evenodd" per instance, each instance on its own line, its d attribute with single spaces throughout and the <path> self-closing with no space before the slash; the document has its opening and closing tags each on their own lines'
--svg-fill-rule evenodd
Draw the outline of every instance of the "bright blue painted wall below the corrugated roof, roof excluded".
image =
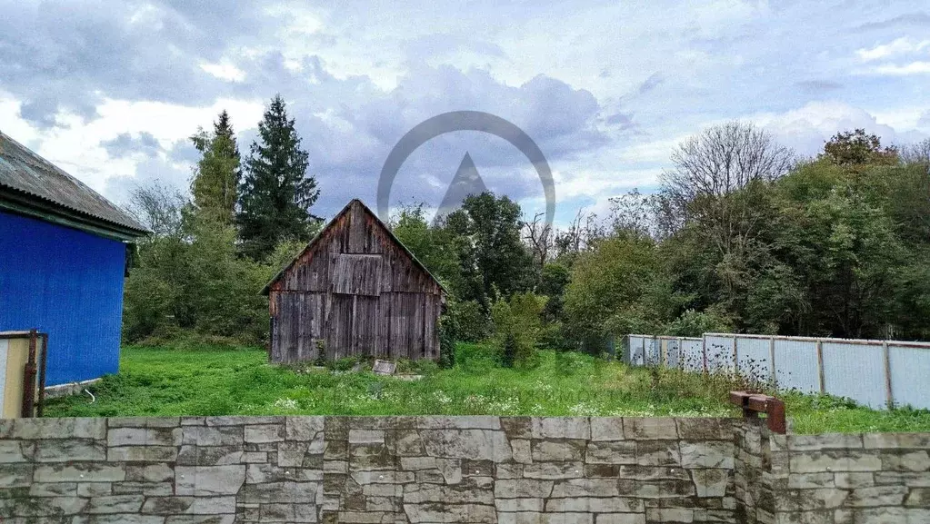
<svg viewBox="0 0 930 524">
<path fill-rule="evenodd" d="M 126 246 L 0 211 L 0 331 L 48 334 L 46 386 L 119 368 Z"/>
</svg>

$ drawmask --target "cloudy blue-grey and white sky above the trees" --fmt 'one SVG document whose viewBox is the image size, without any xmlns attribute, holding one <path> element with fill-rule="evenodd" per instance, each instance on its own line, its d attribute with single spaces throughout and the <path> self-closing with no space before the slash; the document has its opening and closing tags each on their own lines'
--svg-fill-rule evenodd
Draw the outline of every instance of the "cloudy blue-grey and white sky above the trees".
<svg viewBox="0 0 930 524">
<path fill-rule="evenodd" d="M 547 156 L 560 222 L 654 189 L 678 142 L 730 119 L 805 154 L 853 127 L 930 136 L 923 2 L 309 4 L 0 0 L 0 130 L 120 202 L 152 179 L 186 189 L 186 137 L 222 109 L 247 151 L 280 93 L 331 216 L 375 204 L 411 127 L 488 111 Z M 541 210 L 522 154 L 473 131 L 420 147 L 392 203 L 440 203 L 466 152 L 490 189 Z"/>
</svg>

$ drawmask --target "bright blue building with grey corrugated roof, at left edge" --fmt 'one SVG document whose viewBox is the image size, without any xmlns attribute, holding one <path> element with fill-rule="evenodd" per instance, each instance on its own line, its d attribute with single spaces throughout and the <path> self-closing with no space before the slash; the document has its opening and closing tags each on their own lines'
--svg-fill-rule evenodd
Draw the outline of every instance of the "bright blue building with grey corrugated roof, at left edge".
<svg viewBox="0 0 930 524">
<path fill-rule="evenodd" d="M 0 331 L 48 334 L 46 386 L 118 370 L 126 246 L 146 233 L 0 133 Z"/>
</svg>

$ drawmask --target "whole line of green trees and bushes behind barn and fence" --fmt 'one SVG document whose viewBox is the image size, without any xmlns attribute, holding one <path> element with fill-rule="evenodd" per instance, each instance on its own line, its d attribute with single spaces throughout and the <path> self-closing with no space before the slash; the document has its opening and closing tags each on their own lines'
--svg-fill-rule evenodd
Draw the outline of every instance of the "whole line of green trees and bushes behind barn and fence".
<svg viewBox="0 0 930 524">
<path fill-rule="evenodd" d="M 310 159 L 280 98 L 244 160 L 225 113 L 192 139 L 190 200 L 133 195 L 155 234 L 126 282 L 126 339 L 259 344 L 259 289 L 321 226 Z M 800 158 L 732 122 L 672 151 L 654 193 L 610 203 L 553 229 L 485 192 L 432 222 L 407 205 L 390 227 L 450 292 L 443 336 L 493 341 L 507 364 L 633 332 L 930 338 L 930 140 L 857 129 Z"/>
</svg>

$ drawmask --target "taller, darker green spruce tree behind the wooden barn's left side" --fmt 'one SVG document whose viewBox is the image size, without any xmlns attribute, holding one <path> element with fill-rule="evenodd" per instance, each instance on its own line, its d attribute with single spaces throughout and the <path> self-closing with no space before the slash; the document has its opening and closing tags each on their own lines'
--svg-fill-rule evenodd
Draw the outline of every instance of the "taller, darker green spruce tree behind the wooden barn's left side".
<svg viewBox="0 0 930 524">
<path fill-rule="evenodd" d="M 320 190 L 316 178 L 307 177 L 308 157 L 284 99 L 275 96 L 259 123 L 259 139 L 252 142 L 239 188 L 236 219 L 246 255 L 258 260 L 278 242 L 309 240 L 315 223 L 310 207 Z"/>
</svg>

